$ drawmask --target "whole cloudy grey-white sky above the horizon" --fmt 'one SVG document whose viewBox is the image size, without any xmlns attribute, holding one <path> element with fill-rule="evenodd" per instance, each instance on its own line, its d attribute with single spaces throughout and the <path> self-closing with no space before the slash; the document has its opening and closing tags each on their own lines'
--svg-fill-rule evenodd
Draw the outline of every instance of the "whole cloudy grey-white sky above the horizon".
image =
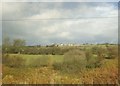
<svg viewBox="0 0 120 86">
<path fill-rule="evenodd" d="M 2 34 L 24 39 L 27 45 L 117 43 L 117 5 L 117 2 L 4 2 Z"/>
</svg>

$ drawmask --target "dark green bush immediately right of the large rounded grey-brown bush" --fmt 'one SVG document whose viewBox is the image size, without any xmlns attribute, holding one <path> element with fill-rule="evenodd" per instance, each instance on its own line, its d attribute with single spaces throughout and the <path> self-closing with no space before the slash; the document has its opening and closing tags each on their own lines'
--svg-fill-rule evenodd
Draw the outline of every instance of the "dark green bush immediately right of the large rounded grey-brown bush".
<svg viewBox="0 0 120 86">
<path fill-rule="evenodd" d="M 102 48 L 93 47 L 91 49 L 87 49 L 85 51 L 85 55 L 87 59 L 87 65 L 86 65 L 87 68 L 96 68 L 101 66 L 102 60 L 104 58 L 104 53 Z"/>
</svg>

